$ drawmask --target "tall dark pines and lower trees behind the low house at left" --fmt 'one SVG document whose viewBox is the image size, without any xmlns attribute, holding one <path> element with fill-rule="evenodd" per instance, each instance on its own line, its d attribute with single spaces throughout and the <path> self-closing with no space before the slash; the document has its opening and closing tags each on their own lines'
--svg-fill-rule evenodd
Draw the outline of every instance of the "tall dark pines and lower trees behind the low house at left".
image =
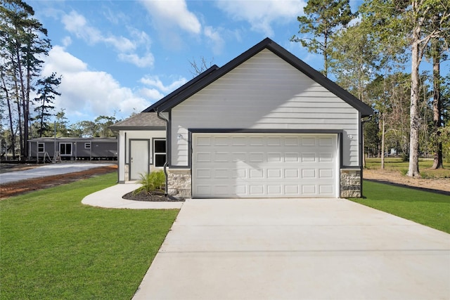
<svg viewBox="0 0 450 300">
<path fill-rule="evenodd" d="M 29 138 L 44 136 L 113 137 L 108 127 L 115 116 L 69 124 L 64 110 L 55 111 L 58 74 L 41 76 L 51 50 L 47 30 L 33 18 L 31 6 L 20 0 L 0 1 L 0 141 L 1 154 L 28 156 Z"/>
</svg>

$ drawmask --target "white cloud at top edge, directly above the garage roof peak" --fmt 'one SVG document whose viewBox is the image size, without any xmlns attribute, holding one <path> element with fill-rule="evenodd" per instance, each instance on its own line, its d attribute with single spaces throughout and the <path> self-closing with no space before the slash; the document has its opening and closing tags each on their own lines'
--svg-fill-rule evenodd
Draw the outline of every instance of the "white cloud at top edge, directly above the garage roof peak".
<svg viewBox="0 0 450 300">
<path fill-rule="evenodd" d="M 304 0 L 218 1 L 219 8 L 231 18 L 249 22 L 252 30 L 262 32 L 268 37 L 274 36 L 272 23 L 295 20 L 303 13 L 305 5 Z"/>
</svg>

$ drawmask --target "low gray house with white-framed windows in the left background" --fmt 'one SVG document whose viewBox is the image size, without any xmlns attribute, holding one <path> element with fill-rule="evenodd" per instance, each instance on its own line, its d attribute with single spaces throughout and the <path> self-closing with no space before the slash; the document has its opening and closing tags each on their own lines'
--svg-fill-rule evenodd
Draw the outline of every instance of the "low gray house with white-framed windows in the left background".
<svg viewBox="0 0 450 300">
<path fill-rule="evenodd" d="M 30 138 L 29 160 L 117 159 L 117 138 Z"/>
</svg>

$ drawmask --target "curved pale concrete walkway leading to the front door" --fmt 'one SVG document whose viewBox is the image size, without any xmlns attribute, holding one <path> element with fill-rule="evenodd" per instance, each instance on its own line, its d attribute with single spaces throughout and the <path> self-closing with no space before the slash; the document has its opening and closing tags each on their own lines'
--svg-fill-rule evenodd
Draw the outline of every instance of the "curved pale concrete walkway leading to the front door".
<svg viewBox="0 0 450 300">
<path fill-rule="evenodd" d="M 82 203 L 93 207 L 112 209 L 180 209 L 184 202 L 146 202 L 122 199 L 122 196 L 139 188 L 139 184 L 117 184 L 87 195 Z"/>
</svg>

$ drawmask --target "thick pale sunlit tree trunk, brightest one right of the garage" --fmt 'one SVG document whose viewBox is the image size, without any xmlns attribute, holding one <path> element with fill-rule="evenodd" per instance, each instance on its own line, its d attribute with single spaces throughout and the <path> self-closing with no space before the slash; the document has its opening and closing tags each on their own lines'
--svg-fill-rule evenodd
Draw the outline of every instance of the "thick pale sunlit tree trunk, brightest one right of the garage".
<svg viewBox="0 0 450 300">
<path fill-rule="evenodd" d="M 413 42 L 411 44 L 411 106 L 409 109 L 410 117 L 410 136 L 409 136 L 409 169 L 408 176 L 420 177 L 419 173 L 419 38 L 420 27 L 413 30 Z"/>
</svg>

